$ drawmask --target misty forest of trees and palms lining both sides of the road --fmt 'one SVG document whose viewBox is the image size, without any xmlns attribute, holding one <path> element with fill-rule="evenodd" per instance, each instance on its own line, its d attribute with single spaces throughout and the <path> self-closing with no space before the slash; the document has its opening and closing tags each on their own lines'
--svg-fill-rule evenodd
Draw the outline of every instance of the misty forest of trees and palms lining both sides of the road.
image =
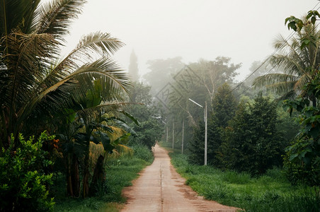
<svg viewBox="0 0 320 212">
<path fill-rule="evenodd" d="M 85 35 L 61 56 L 84 3 L 1 6 L 0 211 L 52 208 L 54 172 L 64 176 L 67 196 L 95 196 L 105 161 L 132 146 L 183 142 L 190 162 L 202 165 L 205 105 L 208 165 L 252 176 L 281 167 L 292 183 L 319 187 L 317 11 L 287 18 L 295 35 L 277 40 L 278 54 L 263 66 L 253 62 L 244 83 L 236 81 L 241 64 L 229 57 L 148 61 L 142 83 L 135 52 L 131 76 L 111 59 L 124 44 L 109 33 Z"/>
</svg>

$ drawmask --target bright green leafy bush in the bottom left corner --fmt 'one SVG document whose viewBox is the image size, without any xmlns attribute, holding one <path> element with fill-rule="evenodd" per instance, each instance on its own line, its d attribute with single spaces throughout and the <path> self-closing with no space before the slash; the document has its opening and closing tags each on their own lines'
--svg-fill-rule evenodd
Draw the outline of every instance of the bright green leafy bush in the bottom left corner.
<svg viewBox="0 0 320 212">
<path fill-rule="evenodd" d="M 47 211 L 55 204 L 48 194 L 52 174 L 45 168 L 52 165 L 42 150 L 44 141 L 54 139 L 43 132 L 38 141 L 25 141 L 19 134 L 19 148 L 12 145 L 0 153 L 0 211 Z M 11 136 L 11 141 L 14 138 Z"/>
</svg>

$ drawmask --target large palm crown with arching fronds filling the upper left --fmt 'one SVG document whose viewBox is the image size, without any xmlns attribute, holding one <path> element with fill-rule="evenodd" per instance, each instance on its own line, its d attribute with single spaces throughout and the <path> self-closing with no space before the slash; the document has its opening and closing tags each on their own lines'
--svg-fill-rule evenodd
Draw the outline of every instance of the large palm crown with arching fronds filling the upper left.
<svg viewBox="0 0 320 212">
<path fill-rule="evenodd" d="M 108 33 L 82 37 L 60 58 L 64 35 L 85 0 L 0 2 L 0 147 L 30 119 L 72 107 L 98 79 L 104 102 L 119 100 L 127 91 L 127 76 L 110 59 L 123 44 Z"/>
</svg>

